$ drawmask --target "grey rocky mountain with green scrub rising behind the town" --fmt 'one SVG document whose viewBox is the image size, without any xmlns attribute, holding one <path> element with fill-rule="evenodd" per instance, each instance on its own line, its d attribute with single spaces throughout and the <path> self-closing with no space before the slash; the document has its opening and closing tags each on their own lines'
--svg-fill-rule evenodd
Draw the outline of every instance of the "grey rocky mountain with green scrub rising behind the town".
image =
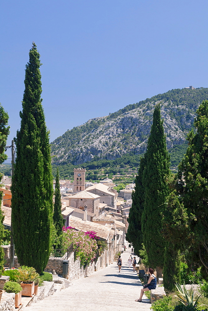
<svg viewBox="0 0 208 311">
<path fill-rule="evenodd" d="M 168 148 L 181 145 L 193 126 L 196 109 L 205 99 L 208 99 L 208 88 L 175 89 L 108 116 L 90 119 L 51 143 L 53 163 L 78 165 L 95 158 L 112 160 L 130 152 L 144 153 L 158 102 Z"/>
</svg>

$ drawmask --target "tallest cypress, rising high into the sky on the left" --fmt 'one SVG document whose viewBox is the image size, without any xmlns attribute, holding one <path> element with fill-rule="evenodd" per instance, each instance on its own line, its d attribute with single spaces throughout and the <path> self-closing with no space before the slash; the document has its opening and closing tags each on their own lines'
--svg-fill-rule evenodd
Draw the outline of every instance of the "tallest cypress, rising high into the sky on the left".
<svg viewBox="0 0 208 311">
<path fill-rule="evenodd" d="M 12 176 L 12 224 L 20 265 L 42 272 L 51 251 L 53 181 L 49 132 L 40 98 L 40 54 L 35 43 L 26 65 L 21 128 L 16 138 L 16 165 Z"/>
</svg>

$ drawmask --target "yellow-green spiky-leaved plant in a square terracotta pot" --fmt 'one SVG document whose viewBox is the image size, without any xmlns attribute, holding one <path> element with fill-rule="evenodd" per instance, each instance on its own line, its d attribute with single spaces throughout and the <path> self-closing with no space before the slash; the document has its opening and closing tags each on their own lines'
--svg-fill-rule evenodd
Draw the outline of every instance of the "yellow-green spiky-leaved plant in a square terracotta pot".
<svg viewBox="0 0 208 311">
<path fill-rule="evenodd" d="M 34 294 L 35 282 L 34 279 L 39 274 L 32 267 L 21 266 L 17 271 L 17 281 L 22 287 L 22 296 L 30 296 Z"/>
</svg>

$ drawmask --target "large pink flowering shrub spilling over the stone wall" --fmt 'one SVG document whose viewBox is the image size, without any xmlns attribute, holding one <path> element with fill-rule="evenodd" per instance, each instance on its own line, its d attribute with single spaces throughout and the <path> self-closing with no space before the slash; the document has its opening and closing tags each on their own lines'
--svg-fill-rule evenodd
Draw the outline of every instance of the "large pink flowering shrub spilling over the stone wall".
<svg viewBox="0 0 208 311">
<path fill-rule="evenodd" d="M 91 237 L 93 236 L 93 237 Z M 63 227 L 63 244 L 64 247 L 78 245 L 77 256 L 80 258 L 81 266 L 86 266 L 91 260 L 95 258 L 97 243 L 96 243 L 96 232 L 89 231 L 77 231 L 72 227 Z"/>
</svg>

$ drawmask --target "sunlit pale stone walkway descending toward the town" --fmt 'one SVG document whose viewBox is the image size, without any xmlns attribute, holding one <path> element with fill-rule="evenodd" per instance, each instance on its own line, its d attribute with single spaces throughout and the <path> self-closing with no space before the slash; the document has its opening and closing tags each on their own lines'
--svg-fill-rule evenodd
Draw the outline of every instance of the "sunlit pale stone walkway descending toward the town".
<svg viewBox="0 0 208 311">
<path fill-rule="evenodd" d="M 128 268 L 129 255 L 128 248 L 121 255 L 121 273 L 114 262 L 88 277 L 73 281 L 72 286 L 31 304 L 24 311 L 149 311 L 151 304 L 145 296 L 142 303 L 135 302 L 142 285 L 137 273 L 133 272 L 133 267 Z M 136 259 L 138 261 L 137 257 Z"/>
</svg>

